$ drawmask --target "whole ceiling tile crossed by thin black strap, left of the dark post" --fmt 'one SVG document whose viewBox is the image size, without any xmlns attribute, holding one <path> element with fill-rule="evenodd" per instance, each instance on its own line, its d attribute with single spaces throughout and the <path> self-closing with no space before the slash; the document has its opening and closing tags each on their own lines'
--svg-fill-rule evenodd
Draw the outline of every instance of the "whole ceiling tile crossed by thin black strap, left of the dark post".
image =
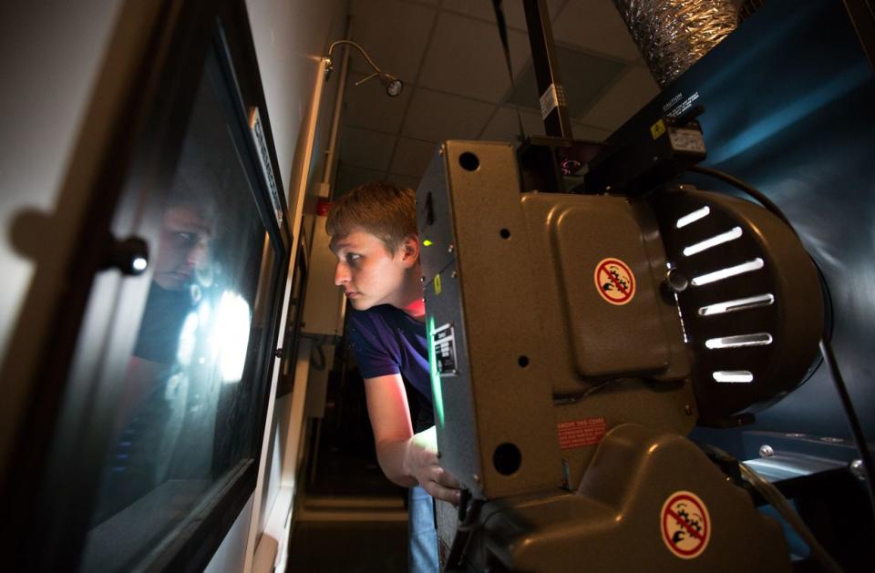
<svg viewBox="0 0 875 573">
<path fill-rule="evenodd" d="M 508 41 L 516 77 L 529 60 L 529 38 L 509 30 Z M 510 77 L 496 27 L 481 20 L 441 12 L 417 83 L 499 103 L 510 89 Z"/>
</svg>

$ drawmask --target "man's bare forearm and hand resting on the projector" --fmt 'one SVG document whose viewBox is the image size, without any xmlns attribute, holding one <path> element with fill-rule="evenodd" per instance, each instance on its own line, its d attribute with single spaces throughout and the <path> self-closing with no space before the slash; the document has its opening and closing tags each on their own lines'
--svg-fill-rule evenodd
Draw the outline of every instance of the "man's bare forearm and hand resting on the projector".
<svg viewBox="0 0 875 573">
<path fill-rule="evenodd" d="M 438 465 L 434 426 L 419 434 L 413 433 L 401 375 L 365 379 L 365 394 L 376 455 L 386 477 L 399 486 L 418 484 L 433 497 L 458 502 L 458 481 Z"/>
</svg>

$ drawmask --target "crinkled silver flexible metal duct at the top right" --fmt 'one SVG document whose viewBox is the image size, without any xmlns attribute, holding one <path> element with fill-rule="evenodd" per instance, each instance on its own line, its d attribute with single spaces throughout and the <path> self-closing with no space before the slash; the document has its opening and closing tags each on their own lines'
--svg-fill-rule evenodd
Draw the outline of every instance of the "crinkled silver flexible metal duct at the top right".
<svg viewBox="0 0 875 573">
<path fill-rule="evenodd" d="M 734 0 L 613 0 L 656 82 L 665 87 L 738 23 Z"/>
</svg>

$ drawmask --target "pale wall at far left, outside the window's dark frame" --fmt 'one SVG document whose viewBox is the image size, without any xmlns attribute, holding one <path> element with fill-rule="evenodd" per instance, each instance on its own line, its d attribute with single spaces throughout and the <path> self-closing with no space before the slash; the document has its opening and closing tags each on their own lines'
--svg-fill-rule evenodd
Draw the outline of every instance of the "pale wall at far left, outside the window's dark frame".
<svg viewBox="0 0 875 573">
<path fill-rule="evenodd" d="M 0 5 L 0 356 L 34 271 L 8 231 L 22 210 L 55 209 L 121 4 Z"/>
</svg>

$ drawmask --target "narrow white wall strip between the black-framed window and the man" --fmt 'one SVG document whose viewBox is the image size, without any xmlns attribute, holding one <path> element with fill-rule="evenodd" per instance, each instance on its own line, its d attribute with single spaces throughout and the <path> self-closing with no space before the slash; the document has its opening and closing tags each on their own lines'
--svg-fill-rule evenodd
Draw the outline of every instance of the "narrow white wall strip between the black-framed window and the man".
<svg viewBox="0 0 875 573">
<path fill-rule="evenodd" d="M 294 252 L 304 210 L 301 194 L 317 193 L 335 101 L 336 80 L 324 83 L 321 60 L 331 42 L 345 35 L 349 7 L 346 0 L 248 0 L 247 5 L 283 189 L 291 210 Z M 291 276 L 287 288 L 289 285 Z M 286 294 L 283 312 L 287 304 Z M 307 344 L 302 346 L 306 348 Z M 278 370 L 279 361 L 274 364 L 274 372 Z M 274 373 L 273 388 L 276 382 Z M 278 547 L 275 562 L 284 563 L 286 527 L 294 501 L 294 472 L 304 423 L 303 417 L 294 412 L 300 414 L 305 388 L 306 377 L 298 375 L 293 394 L 272 400 L 269 405 L 247 547 L 247 571 L 252 570 L 265 528 L 270 528 L 269 535 L 274 536 L 264 539 L 265 545 Z M 263 562 L 259 559 L 256 573 Z"/>
</svg>

